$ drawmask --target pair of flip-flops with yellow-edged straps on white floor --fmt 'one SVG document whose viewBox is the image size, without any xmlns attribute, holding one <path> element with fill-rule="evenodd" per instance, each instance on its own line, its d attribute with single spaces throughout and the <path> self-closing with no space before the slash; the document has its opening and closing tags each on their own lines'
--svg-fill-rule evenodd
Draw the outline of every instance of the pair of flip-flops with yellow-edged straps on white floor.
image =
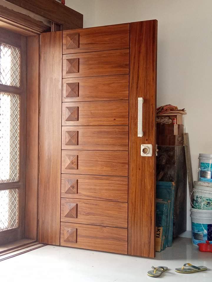
<svg viewBox="0 0 212 282">
<path fill-rule="evenodd" d="M 150 277 L 159 277 L 164 271 L 168 269 L 166 266 L 158 266 L 154 267 L 152 266 L 153 270 L 150 270 L 147 272 L 147 275 Z M 175 268 L 175 271 L 178 273 L 193 273 L 198 271 L 204 271 L 207 270 L 206 266 L 195 266 L 191 263 L 185 263 L 183 264 L 182 268 Z"/>
</svg>

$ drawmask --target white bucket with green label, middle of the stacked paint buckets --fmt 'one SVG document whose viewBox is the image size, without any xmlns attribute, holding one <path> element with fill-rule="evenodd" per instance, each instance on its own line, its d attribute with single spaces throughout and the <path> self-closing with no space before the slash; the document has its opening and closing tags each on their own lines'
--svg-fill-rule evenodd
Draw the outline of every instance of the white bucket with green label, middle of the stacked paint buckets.
<svg viewBox="0 0 212 282">
<path fill-rule="evenodd" d="M 212 183 L 194 181 L 193 207 L 212 211 Z"/>
</svg>

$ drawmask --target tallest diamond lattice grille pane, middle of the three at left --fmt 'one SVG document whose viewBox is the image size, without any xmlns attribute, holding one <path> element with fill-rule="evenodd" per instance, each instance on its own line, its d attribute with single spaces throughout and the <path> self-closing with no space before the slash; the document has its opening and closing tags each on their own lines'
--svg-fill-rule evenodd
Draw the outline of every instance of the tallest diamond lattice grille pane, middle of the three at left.
<svg viewBox="0 0 212 282">
<path fill-rule="evenodd" d="M 0 92 L 0 182 L 19 180 L 19 95 Z"/>
</svg>

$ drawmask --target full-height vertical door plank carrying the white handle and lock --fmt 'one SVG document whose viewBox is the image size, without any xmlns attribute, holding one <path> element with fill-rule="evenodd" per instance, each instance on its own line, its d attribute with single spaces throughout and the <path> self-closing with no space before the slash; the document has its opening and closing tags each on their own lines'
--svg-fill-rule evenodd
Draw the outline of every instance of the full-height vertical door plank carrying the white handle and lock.
<svg viewBox="0 0 212 282">
<path fill-rule="evenodd" d="M 128 254 L 155 256 L 157 21 L 130 24 Z M 143 97 L 143 137 L 138 137 L 138 97 Z M 140 156 L 141 144 L 152 157 Z"/>
</svg>

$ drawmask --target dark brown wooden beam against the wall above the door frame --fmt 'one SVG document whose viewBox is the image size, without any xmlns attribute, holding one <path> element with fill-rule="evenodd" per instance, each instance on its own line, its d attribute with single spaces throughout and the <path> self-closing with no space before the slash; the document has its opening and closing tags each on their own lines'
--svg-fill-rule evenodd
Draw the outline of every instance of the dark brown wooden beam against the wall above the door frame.
<svg viewBox="0 0 212 282">
<path fill-rule="evenodd" d="M 63 25 L 63 30 L 83 27 L 83 15 L 57 1 L 52 0 L 6 0 L 21 8 L 31 11 L 57 24 Z"/>
</svg>

